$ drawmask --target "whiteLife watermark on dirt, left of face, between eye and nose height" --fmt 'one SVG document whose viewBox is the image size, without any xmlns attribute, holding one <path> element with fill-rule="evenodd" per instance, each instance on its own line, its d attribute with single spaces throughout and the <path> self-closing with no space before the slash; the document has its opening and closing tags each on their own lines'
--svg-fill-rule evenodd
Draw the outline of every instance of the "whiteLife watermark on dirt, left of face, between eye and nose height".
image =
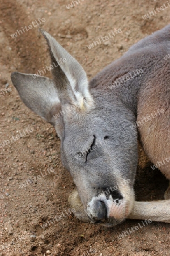
<svg viewBox="0 0 170 256">
<path fill-rule="evenodd" d="M 53 173 L 55 170 L 53 167 L 48 168 L 46 171 L 40 171 L 40 174 L 37 176 L 29 177 L 22 184 L 19 185 L 19 188 L 26 188 L 28 185 L 36 184 L 38 180 L 42 179 L 42 177 L 46 177 L 47 175 Z M 48 172 L 48 174 L 47 174 Z M 56 175 L 57 176 L 57 175 Z"/>
</svg>

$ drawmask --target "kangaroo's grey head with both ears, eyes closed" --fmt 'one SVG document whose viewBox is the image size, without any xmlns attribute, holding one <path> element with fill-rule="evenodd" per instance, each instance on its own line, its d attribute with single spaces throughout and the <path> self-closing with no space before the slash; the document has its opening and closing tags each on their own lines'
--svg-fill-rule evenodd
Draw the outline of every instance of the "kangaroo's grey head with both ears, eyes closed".
<svg viewBox="0 0 170 256">
<path fill-rule="evenodd" d="M 90 220 L 120 222 L 134 203 L 134 117 L 106 88 L 90 89 L 78 61 L 47 32 L 42 34 L 54 65 L 53 80 L 14 72 L 12 82 L 24 104 L 55 127 L 62 163 Z"/>
</svg>

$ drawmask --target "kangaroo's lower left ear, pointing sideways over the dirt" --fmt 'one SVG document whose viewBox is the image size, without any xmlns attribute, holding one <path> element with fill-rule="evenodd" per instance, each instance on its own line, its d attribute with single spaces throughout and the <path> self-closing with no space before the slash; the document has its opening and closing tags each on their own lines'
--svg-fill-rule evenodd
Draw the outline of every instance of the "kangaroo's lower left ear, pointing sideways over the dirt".
<svg viewBox="0 0 170 256">
<path fill-rule="evenodd" d="M 61 136 L 61 118 L 55 115 L 61 110 L 57 88 L 52 79 L 19 72 L 11 74 L 11 80 L 24 104 L 45 121 L 56 127 Z"/>
</svg>

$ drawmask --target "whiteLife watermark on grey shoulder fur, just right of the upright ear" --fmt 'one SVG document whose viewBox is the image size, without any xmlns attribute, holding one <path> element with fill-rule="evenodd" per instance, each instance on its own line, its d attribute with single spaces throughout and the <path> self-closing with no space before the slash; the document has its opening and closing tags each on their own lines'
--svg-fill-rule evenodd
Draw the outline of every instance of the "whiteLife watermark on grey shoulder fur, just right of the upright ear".
<svg viewBox="0 0 170 256">
<path fill-rule="evenodd" d="M 120 86 L 121 84 L 124 84 L 124 82 L 129 81 L 131 79 L 134 79 L 137 76 L 141 76 L 143 74 L 143 69 L 135 69 L 135 71 L 130 71 L 127 76 L 122 76 L 116 79 L 116 81 L 113 82 L 113 84 L 109 85 L 109 89 L 116 88 Z"/>
</svg>

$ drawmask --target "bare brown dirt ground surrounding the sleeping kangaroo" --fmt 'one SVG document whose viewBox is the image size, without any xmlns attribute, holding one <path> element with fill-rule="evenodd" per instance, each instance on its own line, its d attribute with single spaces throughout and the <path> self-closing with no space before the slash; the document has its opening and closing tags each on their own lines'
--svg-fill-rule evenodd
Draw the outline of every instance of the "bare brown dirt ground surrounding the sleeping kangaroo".
<svg viewBox="0 0 170 256">
<path fill-rule="evenodd" d="M 12 86 L 11 72 L 37 73 L 50 65 L 38 26 L 11 36 L 32 22 L 37 24 L 39 18 L 45 19 L 40 27 L 82 64 L 89 79 L 132 44 L 170 22 L 170 7 L 142 18 L 166 1 L 77 3 L 67 9 L 70 0 L 0 0 L 0 143 L 10 141 L 0 148 L 0 255 L 170 255 L 169 224 L 152 222 L 120 239 L 122 232 L 142 221 L 126 220 L 107 229 L 74 217 L 67 198 L 75 185 L 62 167 L 59 138 L 52 126 L 24 106 Z M 122 32 L 88 49 L 114 28 Z M 151 169 L 141 148 L 139 152 L 137 199 L 163 199 L 167 180 Z"/>
</svg>

